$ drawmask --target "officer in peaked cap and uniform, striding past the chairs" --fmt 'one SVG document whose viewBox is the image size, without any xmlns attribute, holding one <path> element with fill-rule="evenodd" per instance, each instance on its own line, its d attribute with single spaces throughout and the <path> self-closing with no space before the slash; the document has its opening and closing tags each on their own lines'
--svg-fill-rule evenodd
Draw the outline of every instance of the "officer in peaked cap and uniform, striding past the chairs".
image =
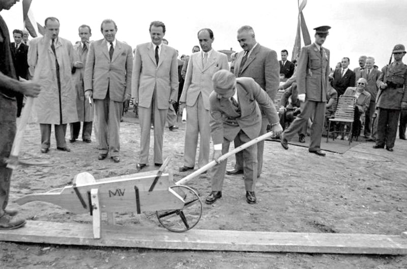
<svg viewBox="0 0 407 269">
<path fill-rule="evenodd" d="M 288 141 L 303 127 L 312 116 L 311 142 L 308 151 L 325 156 L 321 151 L 321 138 L 324 127 L 325 105 L 329 67 L 329 50 L 322 47 L 331 29 L 319 26 L 315 30 L 315 42 L 301 49 L 297 65 L 298 99 L 304 102 L 304 108 L 293 123 L 281 135 L 281 146 L 288 149 Z"/>
</svg>

